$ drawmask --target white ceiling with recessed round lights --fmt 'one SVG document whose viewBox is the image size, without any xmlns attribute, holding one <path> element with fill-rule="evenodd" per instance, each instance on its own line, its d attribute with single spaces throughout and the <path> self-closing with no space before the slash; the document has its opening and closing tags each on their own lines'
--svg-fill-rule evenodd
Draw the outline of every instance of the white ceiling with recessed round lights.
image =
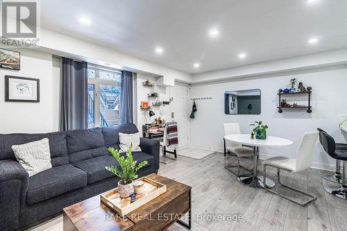
<svg viewBox="0 0 347 231">
<path fill-rule="evenodd" d="M 311 0 L 312 1 L 312 0 Z M 41 26 L 187 73 L 347 46 L 346 0 L 44 0 Z M 90 17 L 89 26 L 78 17 Z M 208 31 L 217 28 L 218 37 Z M 319 37 L 318 44 L 308 44 Z M 155 47 L 162 46 L 161 55 Z M 240 60 L 239 53 L 247 53 Z M 195 69 L 194 62 L 200 67 Z"/>
</svg>

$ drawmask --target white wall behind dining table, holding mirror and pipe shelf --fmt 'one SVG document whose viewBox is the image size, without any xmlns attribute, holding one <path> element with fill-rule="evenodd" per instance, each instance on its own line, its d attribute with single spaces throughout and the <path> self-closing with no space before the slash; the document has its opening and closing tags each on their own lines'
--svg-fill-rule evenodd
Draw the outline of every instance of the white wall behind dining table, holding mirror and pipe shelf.
<svg viewBox="0 0 347 231">
<path fill-rule="evenodd" d="M 305 110 L 284 110 L 278 113 L 278 89 L 285 88 L 291 78 L 298 78 L 304 85 L 312 87 L 312 114 Z M 244 133 L 250 133 L 248 126 L 253 121 L 262 120 L 269 125 L 268 135 L 291 139 L 294 145 L 289 148 L 261 149 L 260 155 L 285 155 L 294 157 L 296 148 L 304 132 L 323 128 L 337 142 L 345 142 L 347 134 L 338 128 L 339 117 L 347 115 L 347 69 L 312 72 L 251 80 L 229 80 L 223 83 L 193 85 L 191 96 L 212 96 L 211 100 L 197 101 L 196 119 L 190 124 L 190 146 L 223 150 L 223 123 L 237 122 Z M 262 90 L 262 113 L 260 115 L 224 114 L 224 92 L 241 89 Z M 294 97 L 294 96 L 291 96 Z M 298 96 L 299 97 L 299 96 Z M 295 98 L 293 101 L 299 101 Z M 289 98 L 289 97 L 287 97 Z M 316 143 L 313 165 L 333 169 L 334 160 L 323 153 Z"/>
</svg>

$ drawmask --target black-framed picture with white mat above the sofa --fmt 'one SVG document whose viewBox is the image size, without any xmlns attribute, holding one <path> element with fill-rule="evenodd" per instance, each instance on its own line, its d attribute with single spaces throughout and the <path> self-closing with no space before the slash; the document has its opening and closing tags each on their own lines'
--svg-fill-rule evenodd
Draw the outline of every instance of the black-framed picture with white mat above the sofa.
<svg viewBox="0 0 347 231">
<path fill-rule="evenodd" d="M 5 76 L 5 101 L 40 102 L 40 79 Z"/>
</svg>

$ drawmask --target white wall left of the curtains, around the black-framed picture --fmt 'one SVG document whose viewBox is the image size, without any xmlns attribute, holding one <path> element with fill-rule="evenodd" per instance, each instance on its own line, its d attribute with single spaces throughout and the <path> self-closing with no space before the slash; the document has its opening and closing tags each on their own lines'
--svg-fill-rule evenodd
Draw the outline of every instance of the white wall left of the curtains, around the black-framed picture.
<svg viewBox="0 0 347 231">
<path fill-rule="evenodd" d="M 58 130 L 59 75 L 52 55 L 29 49 L 21 52 L 21 69 L 0 69 L 0 133 Z M 40 79 L 40 103 L 5 102 L 4 76 Z"/>
</svg>

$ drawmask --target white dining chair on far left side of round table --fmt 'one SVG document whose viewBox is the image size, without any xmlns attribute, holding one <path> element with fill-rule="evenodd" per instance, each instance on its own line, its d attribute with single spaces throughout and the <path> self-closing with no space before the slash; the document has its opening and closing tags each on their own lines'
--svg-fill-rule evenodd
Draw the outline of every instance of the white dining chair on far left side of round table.
<svg viewBox="0 0 347 231">
<path fill-rule="evenodd" d="M 225 135 L 231 135 L 231 134 L 240 134 L 240 128 L 239 123 L 224 123 L 224 134 Z M 224 156 L 226 156 L 226 153 L 232 153 L 237 156 L 237 165 L 229 165 L 225 166 L 225 168 L 230 171 L 231 173 L 234 173 L 236 176 L 239 176 L 240 168 L 245 169 L 248 172 L 252 171 L 250 169 L 247 169 L 246 167 L 239 164 L 240 158 L 244 157 L 253 157 L 254 150 L 253 148 L 242 146 L 241 144 L 235 144 L 232 142 L 228 142 L 228 140 L 224 139 Z M 232 171 L 231 168 L 237 167 L 237 173 L 235 171 Z"/>
</svg>

